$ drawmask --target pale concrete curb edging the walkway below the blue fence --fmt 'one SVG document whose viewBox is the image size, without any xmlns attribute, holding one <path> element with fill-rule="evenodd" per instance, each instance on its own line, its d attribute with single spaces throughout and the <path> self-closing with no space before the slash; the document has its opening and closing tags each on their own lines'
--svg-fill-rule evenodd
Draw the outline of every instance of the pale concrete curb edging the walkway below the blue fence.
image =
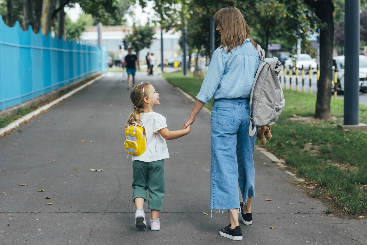
<svg viewBox="0 0 367 245">
<path fill-rule="evenodd" d="M 98 76 L 97 78 L 87 82 L 86 84 L 80 86 L 80 87 L 77 87 L 76 89 L 70 91 L 69 93 L 67 94 L 64 94 L 63 96 L 61 96 L 60 98 L 58 98 L 57 100 L 54 100 L 30 113 L 28 113 L 27 115 L 24 115 L 22 116 L 21 118 L 15 120 L 14 122 L 8 124 L 6 127 L 3 127 L 0 129 L 0 137 L 4 136 L 5 133 L 7 131 L 10 131 L 12 129 L 16 129 L 19 125 L 21 125 L 22 123 L 26 122 L 27 120 L 33 118 L 34 116 L 46 111 L 47 109 L 50 109 L 53 105 L 57 104 L 58 102 L 62 101 L 62 100 L 65 100 L 66 98 L 72 96 L 73 94 L 77 93 L 78 91 L 84 89 L 85 87 L 91 85 L 92 83 L 94 83 L 95 81 L 105 77 L 107 75 L 107 73 L 101 75 L 101 76 Z"/>
</svg>

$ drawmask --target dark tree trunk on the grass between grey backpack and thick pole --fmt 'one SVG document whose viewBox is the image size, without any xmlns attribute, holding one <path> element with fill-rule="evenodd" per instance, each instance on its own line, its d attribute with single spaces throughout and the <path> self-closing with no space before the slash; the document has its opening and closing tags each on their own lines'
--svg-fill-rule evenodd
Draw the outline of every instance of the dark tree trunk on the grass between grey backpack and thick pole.
<svg viewBox="0 0 367 245">
<path fill-rule="evenodd" d="M 333 79 L 334 4 L 331 0 L 304 0 L 327 26 L 320 32 L 320 80 L 317 84 L 315 118 L 330 118 L 331 81 Z"/>
</svg>

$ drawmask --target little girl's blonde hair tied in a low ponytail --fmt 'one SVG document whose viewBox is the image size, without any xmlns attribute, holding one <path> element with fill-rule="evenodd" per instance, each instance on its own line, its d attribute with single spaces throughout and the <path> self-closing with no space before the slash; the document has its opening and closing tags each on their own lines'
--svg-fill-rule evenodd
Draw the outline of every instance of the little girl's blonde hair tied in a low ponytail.
<svg viewBox="0 0 367 245">
<path fill-rule="evenodd" d="M 143 87 L 144 86 L 144 92 Z M 134 106 L 134 111 L 130 113 L 129 118 L 127 119 L 127 122 L 125 123 L 125 128 L 132 125 L 133 122 L 140 122 L 140 118 L 142 116 L 142 113 L 144 113 L 143 109 L 145 108 L 145 102 L 144 98 L 148 97 L 148 92 L 150 89 L 150 83 L 146 82 L 143 83 L 143 85 L 138 84 L 135 85 L 130 93 L 130 100 Z"/>
</svg>

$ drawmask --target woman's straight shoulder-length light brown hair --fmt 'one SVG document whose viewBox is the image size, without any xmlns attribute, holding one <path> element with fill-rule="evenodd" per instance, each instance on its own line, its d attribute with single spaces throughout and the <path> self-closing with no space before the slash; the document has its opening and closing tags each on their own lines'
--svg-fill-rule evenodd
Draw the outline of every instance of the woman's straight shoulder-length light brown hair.
<svg viewBox="0 0 367 245">
<path fill-rule="evenodd" d="M 214 21 L 222 29 L 218 40 L 221 40 L 220 47 L 223 50 L 227 47 L 227 54 L 232 53 L 231 50 L 237 49 L 237 46 L 242 45 L 247 38 L 250 38 L 252 45 L 257 48 L 257 43 L 250 37 L 250 26 L 238 8 L 225 7 L 218 10 L 214 15 Z"/>
</svg>

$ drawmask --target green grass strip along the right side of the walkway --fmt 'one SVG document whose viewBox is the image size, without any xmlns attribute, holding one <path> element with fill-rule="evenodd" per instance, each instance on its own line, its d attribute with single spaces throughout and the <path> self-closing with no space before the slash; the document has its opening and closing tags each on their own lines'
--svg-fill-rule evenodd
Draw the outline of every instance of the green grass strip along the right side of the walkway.
<svg viewBox="0 0 367 245">
<path fill-rule="evenodd" d="M 203 82 L 203 78 L 193 78 L 192 74 L 183 77 L 182 72 L 163 76 L 194 98 Z M 283 158 L 295 172 L 318 184 L 319 188 L 309 194 L 311 197 L 326 195 L 349 212 L 366 212 L 367 132 L 337 129 L 337 124 L 343 122 L 343 99 L 331 99 L 331 116 L 336 117 L 333 120 L 298 120 L 315 115 L 316 95 L 283 92 L 286 106 L 272 126 L 273 137 L 264 147 Z M 211 106 L 212 100 L 207 107 Z M 367 105 L 360 104 L 360 118 L 360 122 L 367 123 Z"/>
</svg>

